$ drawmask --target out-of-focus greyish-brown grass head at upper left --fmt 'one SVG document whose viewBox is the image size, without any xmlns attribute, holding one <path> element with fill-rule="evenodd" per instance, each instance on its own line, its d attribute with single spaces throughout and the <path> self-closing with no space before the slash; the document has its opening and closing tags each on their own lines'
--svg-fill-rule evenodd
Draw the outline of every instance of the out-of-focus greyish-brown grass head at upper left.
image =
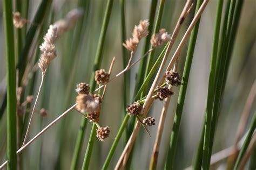
<svg viewBox="0 0 256 170">
<path fill-rule="evenodd" d="M 60 19 L 55 22 L 54 25 L 57 26 L 57 35 L 71 29 L 75 25 L 77 19 L 83 16 L 83 13 L 83 9 L 73 9 L 69 11 L 64 19 Z"/>
</svg>

